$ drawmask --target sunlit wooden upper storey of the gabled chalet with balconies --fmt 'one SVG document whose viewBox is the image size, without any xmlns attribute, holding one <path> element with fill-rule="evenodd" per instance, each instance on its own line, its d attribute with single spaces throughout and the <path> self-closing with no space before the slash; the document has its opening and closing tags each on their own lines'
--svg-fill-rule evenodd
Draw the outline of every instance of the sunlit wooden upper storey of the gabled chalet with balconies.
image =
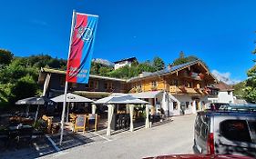
<svg viewBox="0 0 256 159">
<path fill-rule="evenodd" d="M 215 79 L 200 62 L 162 75 L 141 75 L 128 81 L 128 92 L 166 91 L 170 94 L 208 94 L 207 85 Z"/>
</svg>

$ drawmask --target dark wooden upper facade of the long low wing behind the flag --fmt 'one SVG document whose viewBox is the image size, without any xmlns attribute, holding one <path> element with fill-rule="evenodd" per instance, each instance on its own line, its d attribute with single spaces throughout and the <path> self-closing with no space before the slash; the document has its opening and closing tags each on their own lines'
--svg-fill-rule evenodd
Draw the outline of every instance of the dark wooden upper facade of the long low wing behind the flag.
<svg viewBox="0 0 256 159">
<path fill-rule="evenodd" d="M 47 75 L 50 77 L 46 85 Z M 56 96 L 64 93 L 65 77 L 65 71 L 42 68 L 38 84 L 45 84 L 46 96 Z M 68 83 L 68 92 L 82 94 L 88 98 L 101 98 L 111 93 L 127 93 L 127 90 L 126 80 L 99 75 L 90 75 L 88 84 Z"/>
</svg>

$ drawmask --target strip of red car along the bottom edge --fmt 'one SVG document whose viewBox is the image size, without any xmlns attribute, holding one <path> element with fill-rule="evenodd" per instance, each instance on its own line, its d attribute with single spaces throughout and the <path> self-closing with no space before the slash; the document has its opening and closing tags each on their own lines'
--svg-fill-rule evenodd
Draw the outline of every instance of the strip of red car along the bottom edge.
<svg viewBox="0 0 256 159">
<path fill-rule="evenodd" d="M 230 154 L 172 154 L 156 157 L 147 157 L 144 159 L 252 159 L 247 156 Z"/>
</svg>

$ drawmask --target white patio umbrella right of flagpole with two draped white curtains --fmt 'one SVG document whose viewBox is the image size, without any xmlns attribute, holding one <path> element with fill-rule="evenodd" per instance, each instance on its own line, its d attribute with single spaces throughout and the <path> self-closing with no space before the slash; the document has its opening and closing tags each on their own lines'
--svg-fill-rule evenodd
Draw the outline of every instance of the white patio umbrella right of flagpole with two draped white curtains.
<svg viewBox="0 0 256 159">
<path fill-rule="evenodd" d="M 94 102 L 94 104 L 108 104 L 108 129 L 107 135 L 111 134 L 110 124 L 112 122 L 112 116 L 114 114 L 115 104 L 129 104 L 130 113 L 130 131 L 133 131 L 133 110 L 135 104 L 148 104 L 148 102 L 140 100 L 131 96 L 130 94 L 111 94 L 108 97 L 102 98 Z"/>
</svg>

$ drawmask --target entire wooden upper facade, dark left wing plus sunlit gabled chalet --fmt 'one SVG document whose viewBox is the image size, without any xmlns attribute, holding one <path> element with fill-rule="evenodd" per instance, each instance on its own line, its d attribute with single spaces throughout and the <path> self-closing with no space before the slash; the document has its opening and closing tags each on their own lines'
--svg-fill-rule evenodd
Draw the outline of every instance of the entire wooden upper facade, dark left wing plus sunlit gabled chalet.
<svg viewBox="0 0 256 159">
<path fill-rule="evenodd" d="M 49 84 L 46 86 L 46 95 L 50 90 L 64 90 L 65 71 L 41 69 L 38 83 L 46 83 L 46 75 L 50 75 Z M 118 78 L 90 75 L 88 84 L 69 83 L 70 92 L 87 92 L 92 97 L 97 92 L 101 93 L 140 93 L 150 91 L 165 91 L 169 94 L 208 94 L 207 85 L 214 84 L 215 78 L 208 68 L 200 61 L 189 65 L 173 66 L 145 76 L 124 80 Z M 92 95 L 92 96 L 91 96 Z M 106 94 L 107 95 L 107 94 Z M 51 95 L 50 95 L 51 96 Z"/>
</svg>

